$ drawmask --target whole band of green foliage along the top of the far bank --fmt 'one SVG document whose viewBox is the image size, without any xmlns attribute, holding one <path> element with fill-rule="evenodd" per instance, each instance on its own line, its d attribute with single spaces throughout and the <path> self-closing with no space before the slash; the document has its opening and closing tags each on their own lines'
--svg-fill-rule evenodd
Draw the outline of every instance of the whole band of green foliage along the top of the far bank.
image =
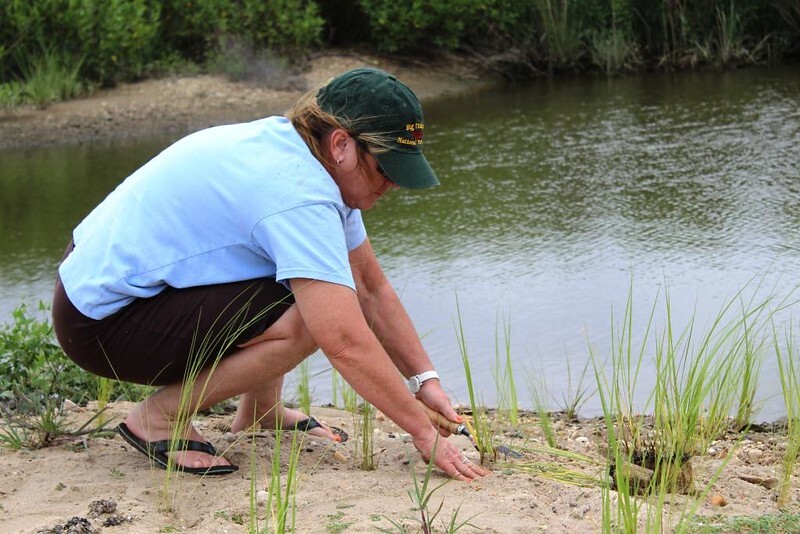
<svg viewBox="0 0 800 534">
<path fill-rule="evenodd" d="M 57 49 L 84 87 L 248 57 L 294 62 L 328 43 L 467 54 L 527 76 L 736 66 L 800 52 L 797 0 L 38 0 L 0 2 L 0 84 Z M 231 43 L 234 43 L 232 46 Z M 280 62 L 279 61 L 279 62 Z M 234 72 L 247 65 L 239 61 Z M 8 88 L 0 104 L 14 105 Z"/>
</svg>

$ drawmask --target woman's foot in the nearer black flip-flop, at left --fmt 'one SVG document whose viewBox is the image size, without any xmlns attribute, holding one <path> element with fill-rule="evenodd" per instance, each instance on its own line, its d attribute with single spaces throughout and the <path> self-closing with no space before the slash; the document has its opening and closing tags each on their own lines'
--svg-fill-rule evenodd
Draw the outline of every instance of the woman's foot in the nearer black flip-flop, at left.
<svg viewBox="0 0 800 534">
<path fill-rule="evenodd" d="M 125 418 L 125 425 L 134 437 L 146 442 L 152 443 L 175 438 L 171 422 L 160 412 L 146 412 L 142 404 L 138 405 Z M 198 441 L 200 443 L 206 442 L 205 438 L 191 424 L 188 425 L 186 432 L 179 439 Z M 207 469 L 209 467 L 231 465 L 225 458 L 203 451 L 186 450 L 168 452 L 167 454 L 178 468 Z"/>
</svg>

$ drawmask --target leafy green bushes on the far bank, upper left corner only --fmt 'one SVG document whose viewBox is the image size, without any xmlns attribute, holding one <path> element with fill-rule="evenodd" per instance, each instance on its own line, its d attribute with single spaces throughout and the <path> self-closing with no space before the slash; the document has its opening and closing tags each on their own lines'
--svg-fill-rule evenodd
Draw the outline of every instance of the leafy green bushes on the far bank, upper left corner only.
<svg viewBox="0 0 800 534">
<path fill-rule="evenodd" d="M 83 58 L 91 84 L 135 80 L 166 64 L 205 61 L 222 36 L 297 55 L 320 42 L 324 20 L 306 0 L 41 0 L 0 2 L 0 80 L 23 78 L 42 49 Z M 10 59 L 10 60 L 9 60 Z"/>
</svg>

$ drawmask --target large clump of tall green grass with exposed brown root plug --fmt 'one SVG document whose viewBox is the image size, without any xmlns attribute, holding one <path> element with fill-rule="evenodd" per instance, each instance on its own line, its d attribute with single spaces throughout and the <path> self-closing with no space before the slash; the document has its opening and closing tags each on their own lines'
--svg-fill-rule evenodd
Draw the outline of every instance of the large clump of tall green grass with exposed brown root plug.
<svg viewBox="0 0 800 534">
<path fill-rule="evenodd" d="M 774 313 L 769 308 L 772 298 L 761 302 L 753 298 L 745 303 L 740 291 L 723 305 L 705 334 L 696 335 L 694 317 L 678 333 L 673 327 L 666 294 L 663 331 L 652 334 L 656 299 L 642 341 L 635 345 L 632 287 L 631 283 L 622 326 L 612 327 L 610 380 L 592 353 L 608 432 L 611 477 L 608 489 L 618 491 L 616 512 L 612 512 L 610 493 L 604 492 L 604 530 L 617 525 L 631 532 L 637 529 L 642 506 L 633 496 L 655 496 L 647 508 L 647 524 L 649 528 L 661 529 L 663 522 L 668 521 L 665 515 L 668 494 L 703 495 L 719 476 L 722 467 L 697 492 L 689 460 L 705 451 L 711 440 L 729 427 L 729 414 L 737 395 L 743 390 L 749 392 L 743 384 L 753 379 L 752 372 L 749 376 L 741 372 L 738 362 L 750 358 L 750 369 L 757 368 L 761 353 L 754 349 L 763 344 L 759 340 Z M 736 303 L 742 304 L 741 312 L 729 318 L 737 309 Z M 751 354 L 745 356 L 748 352 Z M 637 411 L 635 389 L 644 358 L 650 353 L 655 363 L 655 385 L 642 410 Z M 654 413 L 652 419 L 639 415 L 650 408 Z M 699 498 L 691 500 L 678 520 L 691 517 L 699 502 Z"/>
</svg>

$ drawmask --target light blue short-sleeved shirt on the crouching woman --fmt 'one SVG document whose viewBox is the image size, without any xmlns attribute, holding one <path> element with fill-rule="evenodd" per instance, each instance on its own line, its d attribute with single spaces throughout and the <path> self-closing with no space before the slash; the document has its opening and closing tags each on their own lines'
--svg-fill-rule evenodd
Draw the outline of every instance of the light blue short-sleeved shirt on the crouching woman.
<svg viewBox="0 0 800 534">
<path fill-rule="evenodd" d="M 75 229 L 59 274 L 93 319 L 176 288 L 275 277 L 355 289 L 361 212 L 284 117 L 218 126 L 153 158 Z"/>
</svg>

